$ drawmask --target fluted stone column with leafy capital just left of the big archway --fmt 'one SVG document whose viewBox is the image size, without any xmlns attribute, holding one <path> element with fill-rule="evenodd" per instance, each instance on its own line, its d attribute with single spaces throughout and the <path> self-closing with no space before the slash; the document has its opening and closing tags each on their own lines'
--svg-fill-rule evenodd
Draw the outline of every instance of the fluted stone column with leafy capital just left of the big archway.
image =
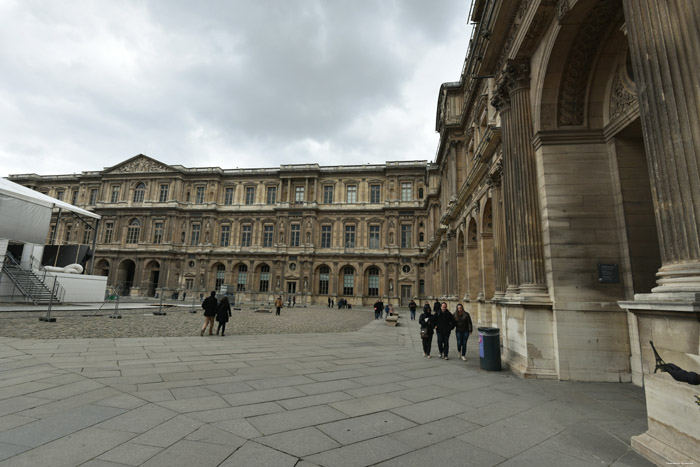
<svg viewBox="0 0 700 467">
<path fill-rule="evenodd" d="M 540 222 L 537 165 L 532 145 L 532 114 L 530 108 L 530 59 L 511 60 L 506 66 L 510 97 L 510 159 L 514 170 L 515 227 L 518 250 L 520 293 L 547 293 L 544 272 L 542 226 Z"/>
</svg>

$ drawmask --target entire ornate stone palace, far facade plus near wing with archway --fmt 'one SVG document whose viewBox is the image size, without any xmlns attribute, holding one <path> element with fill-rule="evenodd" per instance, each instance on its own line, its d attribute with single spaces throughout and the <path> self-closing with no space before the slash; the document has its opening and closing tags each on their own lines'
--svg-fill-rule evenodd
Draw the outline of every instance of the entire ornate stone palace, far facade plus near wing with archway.
<svg viewBox="0 0 700 467">
<path fill-rule="evenodd" d="M 96 269 L 139 292 L 464 302 L 524 377 L 643 385 L 633 447 L 700 462 L 698 391 L 655 372 L 650 345 L 700 372 L 700 2 L 474 0 L 469 19 L 432 163 L 137 156 L 11 179 L 102 214 Z"/>
</svg>

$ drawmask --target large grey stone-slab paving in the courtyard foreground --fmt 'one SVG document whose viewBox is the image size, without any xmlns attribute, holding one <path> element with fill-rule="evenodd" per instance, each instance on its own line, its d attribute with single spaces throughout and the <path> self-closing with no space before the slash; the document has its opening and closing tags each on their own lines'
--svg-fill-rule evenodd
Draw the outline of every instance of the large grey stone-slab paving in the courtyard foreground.
<svg viewBox="0 0 700 467">
<path fill-rule="evenodd" d="M 646 430 L 641 388 L 485 372 L 476 337 L 466 363 L 428 360 L 415 322 L 365 322 L 0 337 L 0 467 L 651 465 L 629 447 Z"/>
</svg>

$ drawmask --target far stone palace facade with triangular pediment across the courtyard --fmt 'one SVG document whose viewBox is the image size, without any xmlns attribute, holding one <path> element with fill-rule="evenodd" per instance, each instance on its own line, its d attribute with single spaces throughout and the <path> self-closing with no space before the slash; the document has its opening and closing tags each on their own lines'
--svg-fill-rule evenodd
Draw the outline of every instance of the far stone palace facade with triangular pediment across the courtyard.
<svg viewBox="0 0 700 467">
<path fill-rule="evenodd" d="M 239 302 L 406 304 L 425 294 L 428 166 L 225 170 L 138 155 L 100 172 L 10 178 L 102 215 L 94 273 L 122 293 L 183 297 L 225 285 Z M 54 242 L 90 235 L 54 217 Z"/>
</svg>

